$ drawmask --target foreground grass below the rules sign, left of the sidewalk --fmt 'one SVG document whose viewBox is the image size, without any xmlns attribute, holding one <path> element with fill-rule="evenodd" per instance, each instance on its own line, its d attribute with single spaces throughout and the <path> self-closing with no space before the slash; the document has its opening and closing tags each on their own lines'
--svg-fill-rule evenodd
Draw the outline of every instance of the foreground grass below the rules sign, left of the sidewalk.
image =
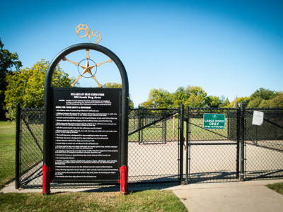
<svg viewBox="0 0 283 212">
<path fill-rule="evenodd" d="M 1 194 L 0 211 L 187 211 L 171 191 Z"/>
</svg>

